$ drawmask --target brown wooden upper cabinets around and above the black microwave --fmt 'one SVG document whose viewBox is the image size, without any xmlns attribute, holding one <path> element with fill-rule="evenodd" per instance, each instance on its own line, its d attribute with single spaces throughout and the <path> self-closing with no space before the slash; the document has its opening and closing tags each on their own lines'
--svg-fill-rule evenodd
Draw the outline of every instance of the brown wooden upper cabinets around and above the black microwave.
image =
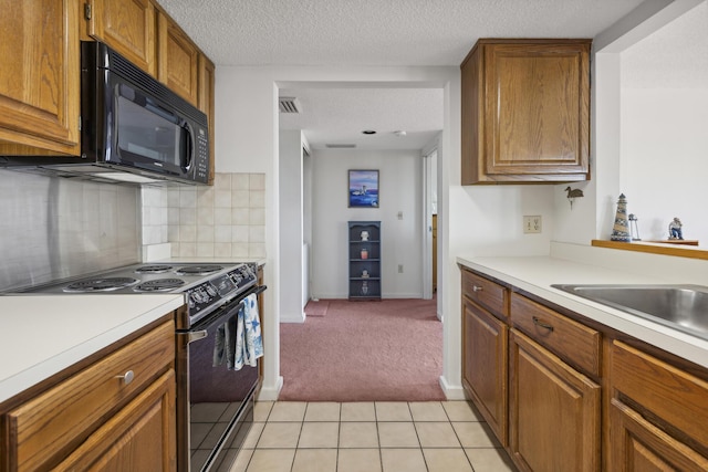
<svg viewBox="0 0 708 472">
<path fill-rule="evenodd" d="M 152 0 L 0 0 L 0 156 L 81 154 L 81 41 L 101 41 L 201 109 L 214 182 L 215 65 Z"/>
</svg>

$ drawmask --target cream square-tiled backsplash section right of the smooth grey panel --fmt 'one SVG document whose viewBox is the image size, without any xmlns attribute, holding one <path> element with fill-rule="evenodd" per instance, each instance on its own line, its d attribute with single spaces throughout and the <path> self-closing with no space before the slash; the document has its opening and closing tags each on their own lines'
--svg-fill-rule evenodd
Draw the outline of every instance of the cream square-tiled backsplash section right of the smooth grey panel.
<svg viewBox="0 0 708 472">
<path fill-rule="evenodd" d="M 212 187 L 144 187 L 143 247 L 173 258 L 266 255 L 266 175 L 216 175 Z"/>
</svg>

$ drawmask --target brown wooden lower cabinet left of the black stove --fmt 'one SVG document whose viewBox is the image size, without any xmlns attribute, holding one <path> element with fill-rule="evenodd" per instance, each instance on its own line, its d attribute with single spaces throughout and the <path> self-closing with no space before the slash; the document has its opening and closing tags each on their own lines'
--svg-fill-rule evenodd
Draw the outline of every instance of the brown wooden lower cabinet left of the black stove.
<svg viewBox="0 0 708 472">
<path fill-rule="evenodd" d="M 0 471 L 175 471 L 171 319 L 0 405 Z"/>
</svg>

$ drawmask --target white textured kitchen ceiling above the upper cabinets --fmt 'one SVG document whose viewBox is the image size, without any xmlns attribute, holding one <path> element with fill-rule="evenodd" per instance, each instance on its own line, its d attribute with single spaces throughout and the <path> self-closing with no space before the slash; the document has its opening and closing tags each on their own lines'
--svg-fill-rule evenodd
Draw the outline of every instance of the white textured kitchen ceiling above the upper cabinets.
<svg viewBox="0 0 708 472">
<path fill-rule="evenodd" d="M 158 0 L 219 65 L 459 65 L 479 38 L 593 38 L 642 0 Z"/>
</svg>

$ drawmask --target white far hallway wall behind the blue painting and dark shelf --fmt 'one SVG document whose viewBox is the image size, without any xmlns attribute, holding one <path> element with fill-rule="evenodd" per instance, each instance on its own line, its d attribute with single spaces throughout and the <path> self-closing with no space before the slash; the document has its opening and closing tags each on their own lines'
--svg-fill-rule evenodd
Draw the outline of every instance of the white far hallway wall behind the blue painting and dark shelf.
<svg viewBox="0 0 708 472">
<path fill-rule="evenodd" d="M 347 221 L 382 222 L 382 296 L 423 296 L 421 157 L 419 151 L 315 149 L 312 293 L 348 296 Z M 379 207 L 347 207 L 347 170 L 378 169 Z M 402 212 L 403 219 L 398 219 Z M 398 273 L 398 265 L 403 273 Z"/>
</svg>

